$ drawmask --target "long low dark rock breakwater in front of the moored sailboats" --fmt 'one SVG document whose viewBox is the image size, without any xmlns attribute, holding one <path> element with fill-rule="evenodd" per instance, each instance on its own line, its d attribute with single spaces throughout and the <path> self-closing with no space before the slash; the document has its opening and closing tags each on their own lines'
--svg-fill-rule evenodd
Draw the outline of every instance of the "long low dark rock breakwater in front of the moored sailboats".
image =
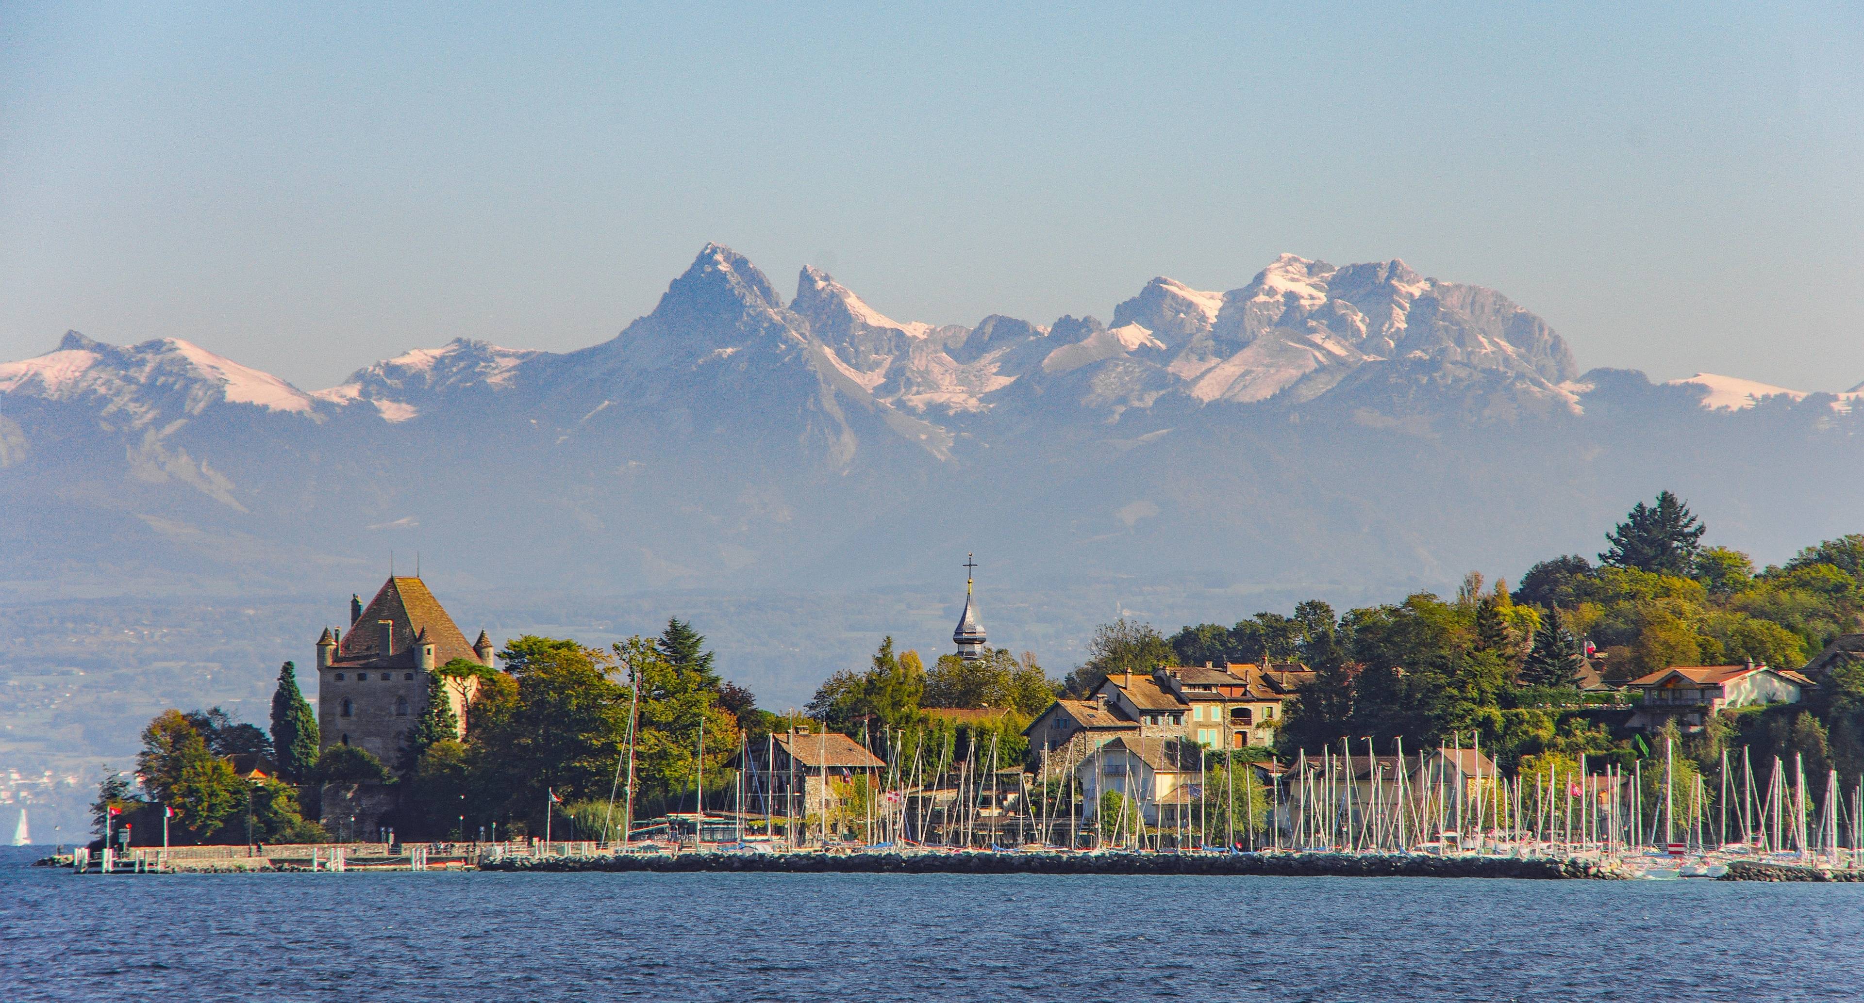
<svg viewBox="0 0 1864 1003">
<path fill-rule="evenodd" d="M 1236 875 L 1359 878 L 1622 878 L 1612 865 L 1543 856 L 1422 854 L 1135 854 L 1135 852 L 686 852 L 507 856 L 481 871 L 857 873 L 857 875 Z"/>
</svg>

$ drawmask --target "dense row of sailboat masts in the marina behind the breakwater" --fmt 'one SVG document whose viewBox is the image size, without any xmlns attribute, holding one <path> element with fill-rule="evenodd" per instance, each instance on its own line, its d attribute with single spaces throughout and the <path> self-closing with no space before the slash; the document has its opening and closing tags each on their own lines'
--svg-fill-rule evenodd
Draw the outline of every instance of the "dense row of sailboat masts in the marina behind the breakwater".
<svg viewBox="0 0 1864 1003">
<path fill-rule="evenodd" d="M 1739 770 L 1722 754 L 1709 796 L 1707 782 L 1679 770 L 1672 741 L 1661 767 L 1629 770 L 1607 763 L 1588 770 L 1573 765 L 1501 776 L 1486 767 L 1480 739 L 1469 756 L 1460 741 L 1435 754 L 1374 756 L 1351 742 L 1320 756 L 1299 756 L 1284 774 L 1254 765 L 1208 763 L 1199 756 L 1199 783 L 1182 783 L 1169 798 L 1122 798 L 1113 819 L 1089 817 L 1079 778 L 1064 769 L 1062 750 L 1044 750 L 1038 772 L 1003 769 L 995 737 L 956 756 L 956 737 L 928 744 L 921 731 L 885 731 L 863 742 L 880 754 L 882 769 L 856 776 L 829 795 L 831 769 L 798 767 L 788 778 L 759 772 L 746 741 L 740 770 L 729 793 L 705 804 L 695 789 L 697 837 L 720 843 L 761 837 L 774 847 L 964 847 L 964 849 L 1074 849 L 1074 850 L 1297 850 L 1346 854 L 1486 854 L 1594 858 L 1694 856 L 1704 862 L 1741 856 L 1786 858 L 1845 867 L 1864 863 L 1864 780 L 1842 791 L 1829 770 L 1814 796 L 1804 757 L 1791 769 L 1773 757 L 1761 780 L 1748 750 Z M 772 739 L 766 739 L 774 742 Z M 807 742 L 809 735 L 792 735 Z M 826 742 L 828 735 L 820 739 Z M 1051 770 L 1049 761 L 1062 763 Z M 774 757 L 764 763 L 775 761 Z M 1079 761 L 1076 757 L 1076 761 Z M 1206 765 L 1208 763 L 1208 765 Z M 1487 772 L 1486 772 L 1487 770 Z M 818 774 L 818 776 L 813 776 Z M 803 778 L 818 780 L 815 791 Z M 1683 778 L 1683 780 L 1679 780 Z M 729 798 L 729 804 L 716 804 Z M 1266 800 L 1266 804 L 1260 804 Z M 630 798 L 632 802 L 632 798 Z M 1849 804 L 1847 804 L 1849 802 Z M 1165 808 L 1167 811 L 1159 811 Z M 1150 809 L 1150 811 L 1148 811 Z M 630 804 L 632 811 L 632 804 Z M 1146 817 L 1161 824 L 1146 824 Z M 1165 819 L 1171 819 L 1169 822 Z M 710 821 L 708 821 L 710 819 Z M 710 830 L 706 828 L 710 826 Z M 621 839 L 621 828 L 606 834 Z M 850 839 L 852 837 L 852 839 Z M 1648 865 L 1661 869 L 1661 865 Z"/>
</svg>

